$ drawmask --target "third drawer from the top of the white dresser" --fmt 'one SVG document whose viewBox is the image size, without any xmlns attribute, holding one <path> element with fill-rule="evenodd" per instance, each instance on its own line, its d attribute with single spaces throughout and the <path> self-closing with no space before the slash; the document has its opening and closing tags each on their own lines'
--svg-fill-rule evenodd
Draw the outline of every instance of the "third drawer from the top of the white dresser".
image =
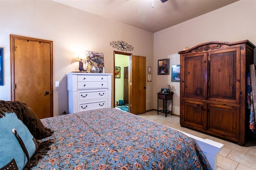
<svg viewBox="0 0 256 170">
<path fill-rule="evenodd" d="M 88 99 L 106 98 L 106 95 L 107 95 L 107 89 L 79 90 L 78 91 L 78 101 L 88 100 Z"/>
</svg>

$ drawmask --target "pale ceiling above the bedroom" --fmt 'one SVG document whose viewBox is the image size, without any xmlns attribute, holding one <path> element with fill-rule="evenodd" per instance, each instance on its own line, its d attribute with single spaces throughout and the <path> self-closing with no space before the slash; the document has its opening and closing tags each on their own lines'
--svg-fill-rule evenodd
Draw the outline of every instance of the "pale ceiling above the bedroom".
<svg viewBox="0 0 256 170">
<path fill-rule="evenodd" d="M 53 0 L 155 33 L 238 0 Z"/>
</svg>

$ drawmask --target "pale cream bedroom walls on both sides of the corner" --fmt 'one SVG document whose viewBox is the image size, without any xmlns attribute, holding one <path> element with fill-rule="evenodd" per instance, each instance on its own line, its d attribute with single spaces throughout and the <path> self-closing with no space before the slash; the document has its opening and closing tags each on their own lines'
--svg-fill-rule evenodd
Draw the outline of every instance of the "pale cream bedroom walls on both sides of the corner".
<svg viewBox="0 0 256 170">
<path fill-rule="evenodd" d="M 256 1 L 240 0 L 153 34 L 51 0 L 0 0 L 0 47 L 4 47 L 0 100 L 11 99 L 10 34 L 54 42 L 54 82 L 60 81 L 60 87 L 54 87 L 54 116 L 68 110 L 66 73 L 78 70 L 78 53 L 102 52 L 105 72 L 113 73 L 113 51 L 118 50 L 110 46 L 110 41 L 118 40 L 134 47 L 124 52 L 146 56 L 146 68 L 152 68 L 152 82 L 146 82 L 146 101 L 150 101 L 146 110 L 157 109 L 156 93 L 171 84 L 176 90 L 174 113 L 179 115 L 180 84 L 171 82 L 171 74 L 157 75 L 158 59 L 170 58 L 170 65 L 179 64 L 178 51 L 207 41 L 248 39 L 256 45 Z"/>
</svg>

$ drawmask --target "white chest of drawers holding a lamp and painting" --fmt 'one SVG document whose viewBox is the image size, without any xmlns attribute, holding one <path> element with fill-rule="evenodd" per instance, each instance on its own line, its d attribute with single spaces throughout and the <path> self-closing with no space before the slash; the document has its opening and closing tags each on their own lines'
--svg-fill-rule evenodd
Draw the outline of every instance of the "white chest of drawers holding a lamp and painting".
<svg viewBox="0 0 256 170">
<path fill-rule="evenodd" d="M 70 72 L 68 113 L 111 107 L 111 76 L 106 73 Z"/>
</svg>

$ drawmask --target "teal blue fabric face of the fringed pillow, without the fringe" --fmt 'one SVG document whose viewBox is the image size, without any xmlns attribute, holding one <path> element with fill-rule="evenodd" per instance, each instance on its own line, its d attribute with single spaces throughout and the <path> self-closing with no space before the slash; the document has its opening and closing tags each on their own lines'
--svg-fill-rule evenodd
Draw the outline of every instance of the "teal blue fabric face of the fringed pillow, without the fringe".
<svg viewBox="0 0 256 170">
<path fill-rule="evenodd" d="M 18 119 L 15 113 L 6 113 L 6 116 L 0 117 L 0 169 L 14 159 L 18 169 L 22 170 L 28 160 L 18 139 L 12 133 L 12 129 L 16 129 L 18 132 L 30 158 L 36 150 L 36 140 L 28 128 Z"/>
</svg>

